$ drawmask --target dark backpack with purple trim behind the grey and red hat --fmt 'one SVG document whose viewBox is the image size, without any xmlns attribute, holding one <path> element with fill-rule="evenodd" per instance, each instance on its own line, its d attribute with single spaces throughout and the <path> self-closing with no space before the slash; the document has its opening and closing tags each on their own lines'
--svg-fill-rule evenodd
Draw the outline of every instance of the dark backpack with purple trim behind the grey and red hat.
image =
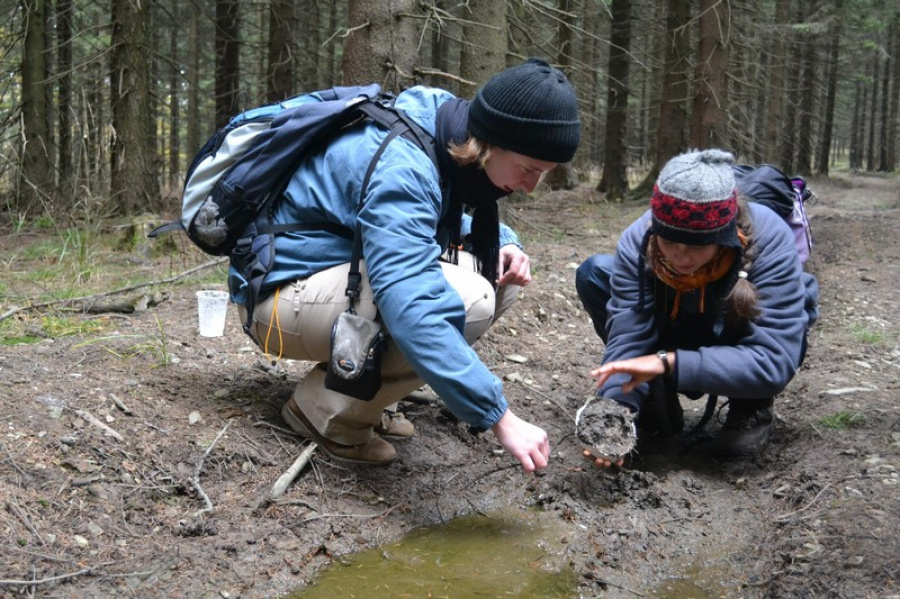
<svg viewBox="0 0 900 599">
<path fill-rule="evenodd" d="M 812 229 L 805 203 L 815 194 L 800 176 L 788 177 L 771 164 L 732 166 L 738 191 L 754 202 L 771 208 L 787 222 L 794 233 L 794 245 L 800 262 L 805 264 L 813 246 Z"/>
</svg>

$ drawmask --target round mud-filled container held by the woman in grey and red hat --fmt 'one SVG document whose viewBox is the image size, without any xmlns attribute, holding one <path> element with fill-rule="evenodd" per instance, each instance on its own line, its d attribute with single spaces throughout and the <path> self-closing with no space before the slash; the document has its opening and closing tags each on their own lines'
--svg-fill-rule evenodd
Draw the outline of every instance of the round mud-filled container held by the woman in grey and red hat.
<svg viewBox="0 0 900 599">
<path fill-rule="evenodd" d="M 637 442 L 634 414 L 620 403 L 591 397 L 575 413 L 575 433 L 595 457 L 628 455 Z"/>
</svg>

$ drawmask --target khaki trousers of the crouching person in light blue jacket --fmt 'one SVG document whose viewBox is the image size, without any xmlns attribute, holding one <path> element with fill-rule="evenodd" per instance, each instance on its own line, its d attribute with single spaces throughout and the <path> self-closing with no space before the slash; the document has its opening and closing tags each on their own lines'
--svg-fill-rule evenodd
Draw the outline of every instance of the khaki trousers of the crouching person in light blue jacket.
<svg viewBox="0 0 900 599">
<path fill-rule="evenodd" d="M 464 336 L 472 345 L 515 303 L 521 287 L 504 286 L 495 294 L 466 252 L 459 252 L 459 265 L 441 262 L 441 268 L 465 305 Z M 318 362 L 297 385 L 293 400 L 319 433 L 343 445 L 367 442 L 374 434 L 373 425 L 381 421 L 382 411 L 424 384 L 388 331 L 381 389 L 374 399 L 361 401 L 325 388 L 331 325 L 347 309 L 344 290 L 349 270 L 349 264 L 342 264 L 285 285 L 256 307 L 251 326 L 251 333 L 267 355 Z M 376 309 L 364 261 L 360 262 L 360 274 L 363 284 L 355 309 L 373 318 Z"/>
</svg>

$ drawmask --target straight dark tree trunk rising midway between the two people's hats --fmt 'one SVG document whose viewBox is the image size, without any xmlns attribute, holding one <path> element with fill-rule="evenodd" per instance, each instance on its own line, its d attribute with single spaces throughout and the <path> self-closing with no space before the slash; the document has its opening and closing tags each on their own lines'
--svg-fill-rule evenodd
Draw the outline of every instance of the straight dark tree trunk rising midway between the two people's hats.
<svg viewBox="0 0 900 599">
<path fill-rule="evenodd" d="M 628 124 L 628 74 L 631 65 L 631 0 L 612 0 L 609 76 L 606 84 L 606 143 L 603 175 L 597 191 L 622 200 L 628 191 L 625 132 Z"/>
</svg>

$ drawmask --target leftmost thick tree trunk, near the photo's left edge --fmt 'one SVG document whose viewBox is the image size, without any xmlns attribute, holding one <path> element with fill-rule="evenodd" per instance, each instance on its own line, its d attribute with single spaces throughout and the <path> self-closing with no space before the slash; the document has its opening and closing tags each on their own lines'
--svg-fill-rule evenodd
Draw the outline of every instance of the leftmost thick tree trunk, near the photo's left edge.
<svg viewBox="0 0 900 599">
<path fill-rule="evenodd" d="M 45 0 L 23 0 L 25 37 L 22 47 L 22 154 L 16 210 L 30 212 L 49 205 L 52 191 L 52 140 L 48 125 Z"/>
</svg>

